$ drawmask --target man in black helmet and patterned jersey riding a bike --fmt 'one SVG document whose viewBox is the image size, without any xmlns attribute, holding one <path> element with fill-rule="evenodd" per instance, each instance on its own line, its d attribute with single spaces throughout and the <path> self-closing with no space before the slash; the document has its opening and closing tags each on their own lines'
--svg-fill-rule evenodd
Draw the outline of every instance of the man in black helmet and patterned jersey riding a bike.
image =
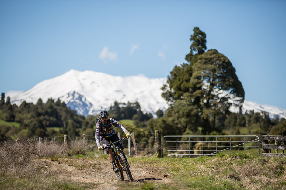
<svg viewBox="0 0 286 190">
<path fill-rule="evenodd" d="M 112 118 L 108 118 L 108 116 L 109 116 L 109 113 L 106 110 L 103 110 L 99 113 L 99 117 L 97 118 L 97 121 L 96 121 L 95 140 L 96 140 L 98 150 L 103 150 L 103 147 L 110 144 L 110 141 L 112 142 L 119 141 L 119 138 L 113 126 L 121 129 L 126 134 L 127 138 L 131 137 L 131 134 L 129 134 L 129 132 L 125 129 L 125 127 L 120 125 L 116 120 Z M 103 147 L 100 145 L 100 141 L 102 141 Z M 123 145 L 121 142 L 118 142 L 116 145 L 120 149 L 123 149 Z M 115 164 L 115 158 L 114 158 L 114 155 L 112 154 L 112 148 L 108 148 L 108 149 L 105 148 L 105 151 L 108 153 L 109 159 L 112 162 L 113 171 L 118 172 L 119 169 L 117 168 Z"/>
</svg>

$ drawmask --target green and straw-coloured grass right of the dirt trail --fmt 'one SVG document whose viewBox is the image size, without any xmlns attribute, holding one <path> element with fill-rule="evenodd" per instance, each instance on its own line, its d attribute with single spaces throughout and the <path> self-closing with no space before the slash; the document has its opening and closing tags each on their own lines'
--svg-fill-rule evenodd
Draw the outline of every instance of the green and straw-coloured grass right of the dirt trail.
<svg viewBox="0 0 286 190">
<path fill-rule="evenodd" d="M 160 170 L 178 189 L 286 189 L 286 157 L 245 153 L 198 158 L 128 158 Z"/>
</svg>

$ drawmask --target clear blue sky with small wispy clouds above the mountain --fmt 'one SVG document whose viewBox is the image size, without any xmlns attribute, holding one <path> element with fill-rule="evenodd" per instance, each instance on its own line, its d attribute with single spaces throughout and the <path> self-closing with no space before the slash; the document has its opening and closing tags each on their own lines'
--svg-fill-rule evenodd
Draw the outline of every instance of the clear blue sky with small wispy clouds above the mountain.
<svg viewBox="0 0 286 190">
<path fill-rule="evenodd" d="M 0 91 L 71 69 L 167 77 L 194 27 L 228 57 L 245 99 L 286 109 L 286 1 L 0 1 Z"/>
</svg>

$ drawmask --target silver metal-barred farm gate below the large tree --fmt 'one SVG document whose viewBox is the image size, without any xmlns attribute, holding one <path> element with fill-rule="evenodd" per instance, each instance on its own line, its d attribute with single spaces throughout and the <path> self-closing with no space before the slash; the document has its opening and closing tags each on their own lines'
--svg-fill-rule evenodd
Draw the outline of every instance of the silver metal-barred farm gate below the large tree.
<svg viewBox="0 0 286 190">
<path fill-rule="evenodd" d="M 248 152 L 260 156 L 256 135 L 168 135 L 162 138 L 163 154 L 170 157 L 212 156 L 218 152 Z"/>
</svg>

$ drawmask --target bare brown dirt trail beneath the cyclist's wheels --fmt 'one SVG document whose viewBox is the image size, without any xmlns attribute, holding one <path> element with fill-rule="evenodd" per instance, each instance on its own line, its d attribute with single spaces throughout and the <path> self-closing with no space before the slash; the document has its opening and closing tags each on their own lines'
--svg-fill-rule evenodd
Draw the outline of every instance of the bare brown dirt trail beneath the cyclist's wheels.
<svg viewBox="0 0 286 190">
<path fill-rule="evenodd" d="M 94 189 L 118 189 L 118 183 L 129 183 L 124 172 L 124 181 L 119 181 L 113 172 L 112 164 L 108 159 L 81 159 L 81 158 L 58 158 L 37 159 L 36 165 L 47 167 L 58 176 L 69 178 L 75 182 L 95 183 Z M 147 168 L 145 165 L 130 164 L 130 171 L 135 184 L 142 182 L 165 183 L 171 182 L 170 178 L 162 174 L 158 168 Z M 107 181 L 104 179 L 108 179 Z"/>
</svg>

